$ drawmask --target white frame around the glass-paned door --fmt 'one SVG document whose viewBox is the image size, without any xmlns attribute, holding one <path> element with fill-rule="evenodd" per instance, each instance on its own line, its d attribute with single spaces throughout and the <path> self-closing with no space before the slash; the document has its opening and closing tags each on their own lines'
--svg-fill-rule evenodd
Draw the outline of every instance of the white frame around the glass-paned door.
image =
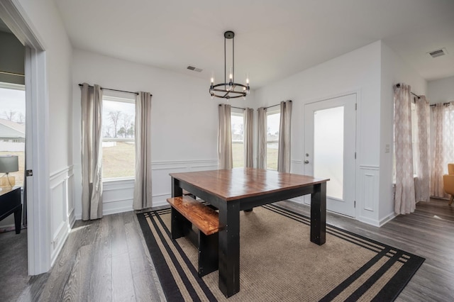
<svg viewBox="0 0 454 302">
<path fill-rule="evenodd" d="M 328 101 L 330 99 L 337 99 L 341 96 L 348 96 L 349 94 L 356 94 L 356 118 L 355 118 L 355 127 L 356 127 L 356 132 L 355 132 L 355 150 L 356 150 L 356 160 L 355 160 L 355 190 L 354 190 L 354 196 L 355 196 L 355 211 L 354 211 L 354 214 L 355 216 L 351 217 L 351 216 L 345 216 L 341 213 L 336 213 L 338 215 L 341 215 L 341 216 L 345 216 L 345 217 L 348 217 L 348 218 L 358 218 L 359 216 L 359 213 L 360 211 L 358 211 L 358 209 L 360 208 L 359 205 L 358 205 L 358 184 L 359 184 L 359 162 L 360 162 L 360 138 L 361 138 L 361 135 L 360 135 L 360 110 L 361 110 L 361 89 L 360 88 L 357 88 L 357 89 L 352 89 L 352 90 L 345 90 L 343 92 L 339 92 L 339 93 L 336 93 L 336 94 L 328 94 L 326 96 L 323 96 L 323 97 L 319 97 L 319 98 L 316 98 L 316 99 L 310 99 L 308 101 L 306 101 L 302 108 L 301 108 L 301 116 L 305 116 L 306 112 L 305 112 L 305 108 L 306 108 L 306 105 L 307 104 L 313 104 L 313 103 L 316 103 L 316 102 L 319 102 L 319 101 Z M 305 129 L 303 131 L 303 142 L 302 142 L 302 145 L 303 145 L 303 149 L 302 149 L 302 153 L 301 153 L 301 165 L 304 165 L 304 160 L 306 159 L 306 157 L 304 156 L 305 155 L 305 150 L 306 150 L 306 139 L 305 139 Z M 304 171 L 304 167 L 301 167 L 301 171 Z M 303 204 L 306 204 L 304 201 L 306 200 L 306 198 L 310 198 L 310 196 L 303 196 L 303 200 L 301 201 L 301 203 Z"/>
</svg>

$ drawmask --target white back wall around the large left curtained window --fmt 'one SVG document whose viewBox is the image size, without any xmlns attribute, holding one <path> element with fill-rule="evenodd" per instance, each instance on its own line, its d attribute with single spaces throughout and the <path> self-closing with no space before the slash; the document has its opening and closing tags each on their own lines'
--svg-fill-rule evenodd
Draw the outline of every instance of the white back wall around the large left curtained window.
<svg viewBox="0 0 454 302">
<path fill-rule="evenodd" d="M 73 55 L 74 174 L 76 217 L 80 218 L 80 89 L 78 84 L 126 91 L 148 91 L 152 96 L 153 206 L 170 196 L 170 172 L 216 169 L 218 165 L 218 104 L 211 99 L 209 79 L 197 79 L 165 69 L 74 50 Z M 253 92 L 248 100 L 253 99 Z M 231 101 L 244 106 L 243 101 Z M 132 210 L 133 181 L 108 181 L 104 213 Z"/>
</svg>

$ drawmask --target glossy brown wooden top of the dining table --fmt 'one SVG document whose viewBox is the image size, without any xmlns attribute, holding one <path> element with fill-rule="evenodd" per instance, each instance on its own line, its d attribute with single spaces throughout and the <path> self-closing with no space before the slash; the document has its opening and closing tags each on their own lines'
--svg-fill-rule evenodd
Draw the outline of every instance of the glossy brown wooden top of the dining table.
<svg viewBox="0 0 454 302">
<path fill-rule="evenodd" d="M 254 168 L 171 173 L 170 176 L 192 184 L 226 201 L 260 196 L 286 189 L 303 188 L 329 180 Z"/>
</svg>

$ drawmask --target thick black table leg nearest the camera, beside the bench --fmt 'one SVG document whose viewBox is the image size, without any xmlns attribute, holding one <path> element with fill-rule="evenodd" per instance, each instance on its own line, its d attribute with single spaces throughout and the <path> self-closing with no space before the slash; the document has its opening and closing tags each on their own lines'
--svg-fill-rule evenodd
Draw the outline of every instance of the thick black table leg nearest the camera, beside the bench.
<svg viewBox="0 0 454 302">
<path fill-rule="evenodd" d="M 219 289 L 227 298 L 240 291 L 240 204 L 219 207 Z"/>
</svg>

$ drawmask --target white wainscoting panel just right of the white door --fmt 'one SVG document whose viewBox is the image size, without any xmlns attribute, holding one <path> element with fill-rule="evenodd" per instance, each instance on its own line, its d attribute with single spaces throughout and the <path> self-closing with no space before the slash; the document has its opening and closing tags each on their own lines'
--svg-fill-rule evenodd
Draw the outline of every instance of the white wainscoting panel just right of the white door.
<svg viewBox="0 0 454 302">
<path fill-rule="evenodd" d="M 380 226 L 378 220 L 378 189 L 380 167 L 360 165 L 358 200 L 356 201 L 358 220 Z M 359 212 L 359 213 L 358 213 Z"/>
</svg>

